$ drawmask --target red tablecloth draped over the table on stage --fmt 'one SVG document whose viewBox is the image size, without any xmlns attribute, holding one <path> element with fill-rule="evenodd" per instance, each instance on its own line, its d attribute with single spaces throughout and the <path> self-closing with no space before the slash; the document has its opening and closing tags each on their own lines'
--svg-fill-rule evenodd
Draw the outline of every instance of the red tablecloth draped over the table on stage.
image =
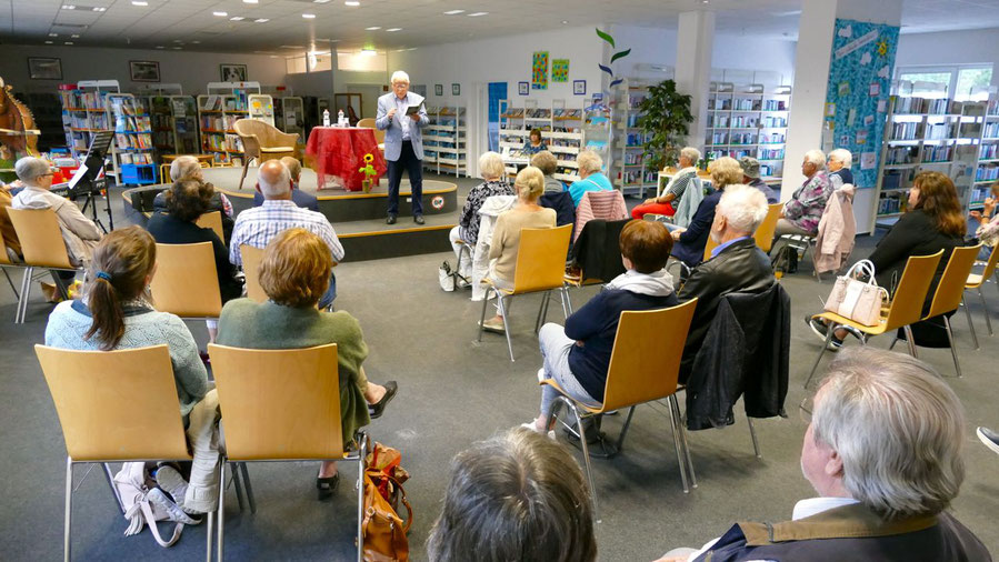
<svg viewBox="0 0 999 562">
<path fill-rule="evenodd" d="M 377 184 L 388 169 L 374 141 L 374 131 L 367 128 L 316 127 L 309 134 L 306 153 L 312 157 L 319 189 L 326 184 L 327 177 L 334 177 L 348 191 L 361 191 L 364 174 L 358 170 L 367 165 L 364 154 L 374 157 L 371 167 L 378 175 L 371 177 L 372 184 Z"/>
</svg>

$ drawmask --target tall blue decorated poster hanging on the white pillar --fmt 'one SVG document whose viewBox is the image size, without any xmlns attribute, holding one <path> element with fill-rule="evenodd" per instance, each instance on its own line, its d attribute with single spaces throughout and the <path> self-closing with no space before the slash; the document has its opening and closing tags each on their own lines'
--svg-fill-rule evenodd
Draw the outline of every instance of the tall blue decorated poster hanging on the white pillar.
<svg viewBox="0 0 999 562">
<path fill-rule="evenodd" d="M 849 150 L 853 161 L 862 164 L 853 168 L 858 188 L 873 188 L 878 181 L 877 160 L 891 91 L 888 77 L 895 67 L 898 37 L 896 26 L 836 20 L 826 118 L 833 121 L 831 129 L 840 140 L 835 148 Z M 830 106 L 839 111 L 830 112 Z"/>
</svg>

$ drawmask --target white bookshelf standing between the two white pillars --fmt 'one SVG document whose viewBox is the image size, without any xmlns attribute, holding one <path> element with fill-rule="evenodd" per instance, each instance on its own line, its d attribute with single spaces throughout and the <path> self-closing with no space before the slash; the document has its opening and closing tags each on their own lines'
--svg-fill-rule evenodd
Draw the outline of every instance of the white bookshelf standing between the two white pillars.
<svg viewBox="0 0 999 562">
<path fill-rule="evenodd" d="M 761 83 L 711 82 L 705 153 L 711 160 L 756 158 L 763 181 L 779 180 L 783 175 L 790 109 L 789 86 L 768 91 Z"/>
</svg>

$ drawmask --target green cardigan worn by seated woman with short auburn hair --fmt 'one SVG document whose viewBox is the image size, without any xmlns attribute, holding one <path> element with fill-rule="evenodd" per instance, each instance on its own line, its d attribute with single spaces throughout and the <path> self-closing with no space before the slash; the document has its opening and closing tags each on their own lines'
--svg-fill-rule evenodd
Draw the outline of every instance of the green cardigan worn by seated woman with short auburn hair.
<svg viewBox="0 0 999 562">
<path fill-rule="evenodd" d="M 320 312 L 312 307 L 236 299 L 222 307 L 216 341 L 220 345 L 246 349 L 302 349 L 336 343 L 343 445 L 352 445 L 354 433 L 371 423 L 368 403 L 358 385 L 368 344 L 361 325 L 347 312 Z"/>
</svg>

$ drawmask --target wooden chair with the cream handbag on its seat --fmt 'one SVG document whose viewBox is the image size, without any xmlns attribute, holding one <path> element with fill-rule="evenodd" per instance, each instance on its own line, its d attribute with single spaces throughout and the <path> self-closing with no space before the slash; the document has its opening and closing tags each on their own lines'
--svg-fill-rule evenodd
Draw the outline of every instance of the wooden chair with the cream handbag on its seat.
<svg viewBox="0 0 999 562">
<path fill-rule="evenodd" d="M 881 318 L 878 321 L 878 325 L 863 325 L 835 312 L 822 312 L 812 315 L 811 318 L 813 319 L 827 320 L 829 322 L 829 330 L 826 332 L 826 342 L 819 351 L 819 357 L 816 358 L 816 364 L 812 365 L 811 373 L 808 375 L 808 380 L 805 381 L 805 388 L 808 388 L 812 377 L 816 375 L 816 370 L 819 368 L 822 354 L 826 353 L 826 350 L 829 348 L 829 342 L 832 340 L 832 333 L 838 327 L 852 331 L 863 344 L 867 344 L 867 339 L 871 335 L 880 335 L 885 332 L 901 328 L 906 331 L 909 354 L 915 358 L 916 344 L 912 340 L 912 329 L 910 328 L 910 324 L 919 322 L 922 319 L 922 303 L 926 301 L 926 294 L 930 289 L 930 283 L 933 281 L 933 273 L 937 271 L 937 264 L 940 263 L 940 257 L 942 255 L 943 250 L 940 250 L 931 255 L 913 255 L 909 258 L 909 261 L 906 262 L 906 269 L 902 271 L 902 278 L 898 283 L 898 289 L 896 289 L 895 295 L 891 298 L 891 303 L 888 305 L 888 310 L 881 311 Z"/>
</svg>

